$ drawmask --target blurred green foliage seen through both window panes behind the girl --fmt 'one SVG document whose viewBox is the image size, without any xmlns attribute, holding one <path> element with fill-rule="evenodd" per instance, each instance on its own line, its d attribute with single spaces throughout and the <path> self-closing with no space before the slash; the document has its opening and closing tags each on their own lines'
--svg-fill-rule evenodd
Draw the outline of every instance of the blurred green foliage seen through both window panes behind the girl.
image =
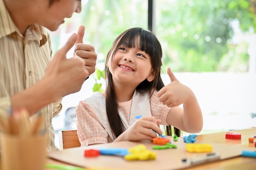
<svg viewBox="0 0 256 170">
<path fill-rule="evenodd" d="M 171 67 L 175 72 L 247 72 L 248 42 L 236 41 L 236 37 L 254 34 L 254 4 L 255 0 L 155 0 L 162 71 Z M 95 47 L 97 63 L 102 64 L 121 32 L 135 26 L 147 29 L 148 0 L 82 0 L 81 13 L 74 15 L 65 22 L 66 29 L 74 27 L 76 32 L 84 25 L 84 42 Z M 56 35 L 52 40 L 59 43 Z M 102 91 L 103 72 L 97 66 L 93 91 Z"/>
</svg>

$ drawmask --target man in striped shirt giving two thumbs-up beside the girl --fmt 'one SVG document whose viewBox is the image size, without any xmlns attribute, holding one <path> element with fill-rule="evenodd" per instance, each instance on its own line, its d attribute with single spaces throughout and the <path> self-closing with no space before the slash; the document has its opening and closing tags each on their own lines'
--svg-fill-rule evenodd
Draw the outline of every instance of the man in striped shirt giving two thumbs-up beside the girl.
<svg viewBox="0 0 256 170">
<path fill-rule="evenodd" d="M 26 108 L 31 121 L 43 113 L 49 151 L 56 150 L 52 117 L 60 112 L 62 97 L 79 91 L 95 71 L 97 55 L 82 43 L 80 26 L 51 60 L 46 28 L 55 31 L 80 11 L 81 0 L 0 0 L 0 113 Z M 67 59 L 74 44 L 75 55 Z"/>
</svg>

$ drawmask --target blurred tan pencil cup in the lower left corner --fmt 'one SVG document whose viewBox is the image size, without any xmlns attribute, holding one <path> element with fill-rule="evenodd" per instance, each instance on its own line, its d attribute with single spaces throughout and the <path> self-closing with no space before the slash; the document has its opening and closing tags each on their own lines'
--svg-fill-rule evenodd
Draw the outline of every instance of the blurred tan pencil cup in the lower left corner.
<svg viewBox="0 0 256 170">
<path fill-rule="evenodd" d="M 2 170 L 45 170 L 47 135 L 1 134 Z"/>
</svg>

